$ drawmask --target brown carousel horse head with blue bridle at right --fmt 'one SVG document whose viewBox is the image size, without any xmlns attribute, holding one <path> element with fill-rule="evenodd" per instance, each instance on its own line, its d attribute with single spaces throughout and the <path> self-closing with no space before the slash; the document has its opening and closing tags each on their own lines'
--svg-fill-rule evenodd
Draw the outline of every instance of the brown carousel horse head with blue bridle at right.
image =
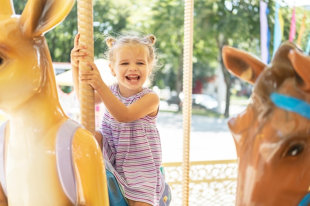
<svg viewBox="0 0 310 206">
<path fill-rule="evenodd" d="M 289 41 L 268 65 L 229 46 L 222 57 L 230 73 L 254 85 L 246 110 L 228 122 L 238 156 L 236 205 L 301 205 L 310 186 L 310 57 Z"/>
</svg>

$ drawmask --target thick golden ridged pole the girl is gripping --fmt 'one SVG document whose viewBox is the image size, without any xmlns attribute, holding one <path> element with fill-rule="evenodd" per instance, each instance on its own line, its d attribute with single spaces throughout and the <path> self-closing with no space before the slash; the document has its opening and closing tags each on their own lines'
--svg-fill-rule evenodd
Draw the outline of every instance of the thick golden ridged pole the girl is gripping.
<svg viewBox="0 0 310 206">
<path fill-rule="evenodd" d="M 93 0 L 78 0 L 78 33 L 79 44 L 87 46 L 89 55 L 79 61 L 79 71 L 91 70 L 86 62 L 94 62 L 94 27 Z M 80 87 L 80 123 L 95 135 L 95 96 L 94 89 L 88 83 L 79 83 Z"/>
</svg>

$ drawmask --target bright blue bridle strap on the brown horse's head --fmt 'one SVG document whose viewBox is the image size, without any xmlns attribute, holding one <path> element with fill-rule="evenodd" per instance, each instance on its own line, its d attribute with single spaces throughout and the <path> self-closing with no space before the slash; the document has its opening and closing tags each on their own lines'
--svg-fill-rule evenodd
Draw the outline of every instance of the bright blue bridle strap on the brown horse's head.
<svg viewBox="0 0 310 206">
<path fill-rule="evenodd" d="M 310 120 L 310 104 L 291 96 L 279 93 L 271 93 L 270 99 L 277 107 L 286 111 L 295 112 Z M 298 206 L 308 206 L 310 204 L 310 193 L 307 193 Z"/>
</svg>

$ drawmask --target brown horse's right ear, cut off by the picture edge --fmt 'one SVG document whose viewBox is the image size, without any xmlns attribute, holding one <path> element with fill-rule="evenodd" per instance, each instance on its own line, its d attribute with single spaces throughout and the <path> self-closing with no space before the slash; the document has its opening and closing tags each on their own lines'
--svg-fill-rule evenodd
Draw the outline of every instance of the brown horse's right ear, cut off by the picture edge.
<svg viewBox="0 0 310 206">
<path fill-rule="evenodd" d="M 303 80 L 299 84 L 300 88 L 304 91 L 310 91 L 310 57 L 295 49 L 290 50 L 288 57 L 291 60 L 294 70 L 300 79 Z"/>
</svg>

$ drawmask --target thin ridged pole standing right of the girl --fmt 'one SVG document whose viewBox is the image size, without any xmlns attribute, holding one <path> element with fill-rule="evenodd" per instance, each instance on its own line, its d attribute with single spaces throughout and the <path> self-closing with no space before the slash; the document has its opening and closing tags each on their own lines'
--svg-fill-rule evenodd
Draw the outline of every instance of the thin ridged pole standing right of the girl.
<svg viewBox="0 0 310 206">
<path fill-rule="evenodd" d="M 182 206 L 188 206 L 190 171 L 190 130 L 192 116 L 193 87 L 193 16 L 194 0 L 185 0 L 184 8 L 184 48 L 183 48 L 183 178 Z"/>
</svg>

